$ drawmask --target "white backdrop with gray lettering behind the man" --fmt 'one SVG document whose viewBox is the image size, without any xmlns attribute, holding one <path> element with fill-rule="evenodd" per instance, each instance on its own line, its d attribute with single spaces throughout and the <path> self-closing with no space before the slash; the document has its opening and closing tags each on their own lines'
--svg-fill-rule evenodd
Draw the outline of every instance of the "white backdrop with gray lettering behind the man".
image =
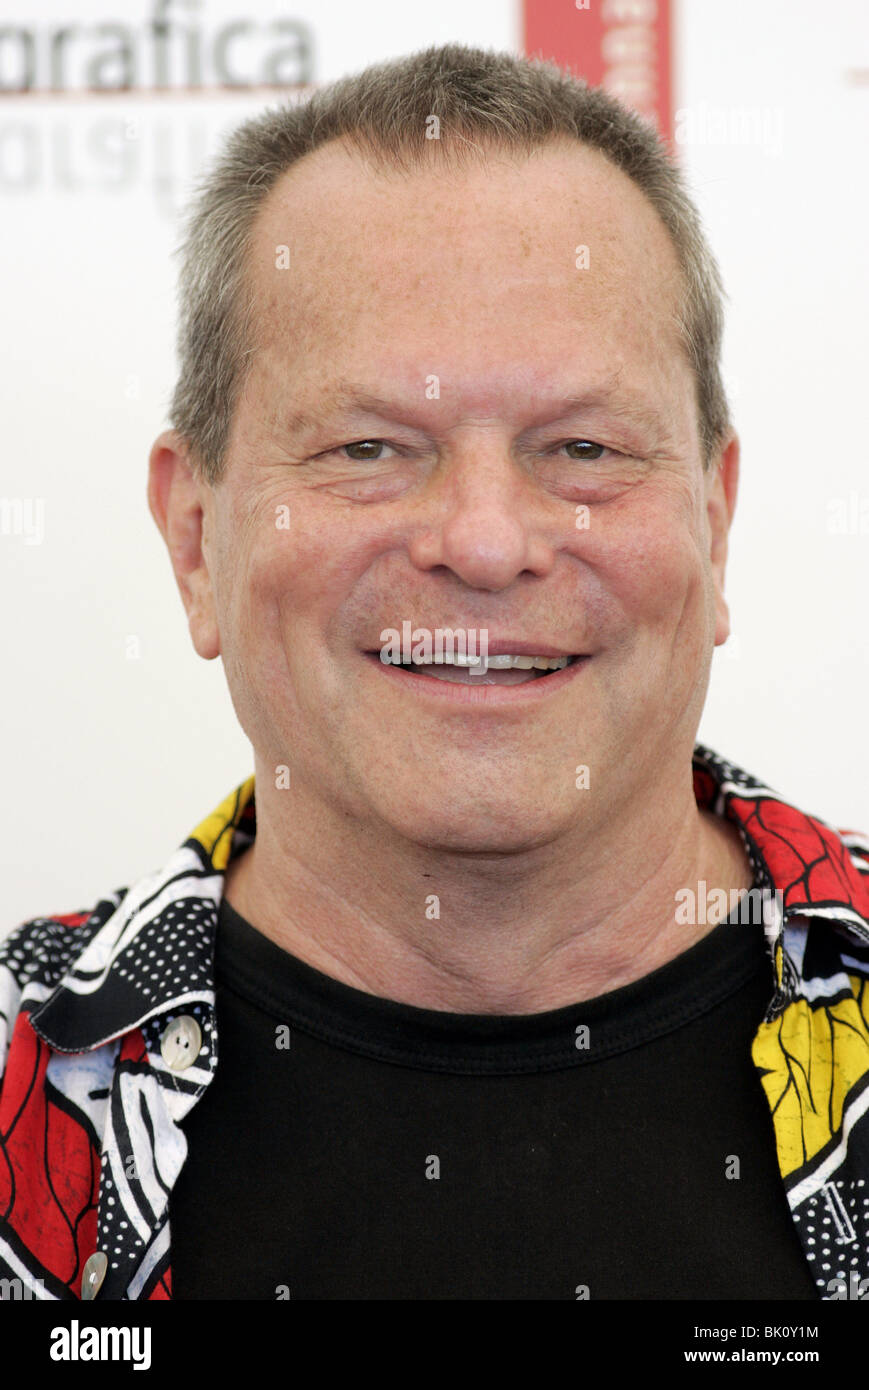
<svg viewBox="0 0 869 1390">
<path fill-rule="evenodd" d="M 253 770 L 222 666 L 202 662 L 146 505 L 174 385 L 175 217 L 259 90 L 88 96 L 88 31 L 145 33 L 146 0 L 0 0 L 0 31 L 65 42 L 57 95 L 0 96 L 4 902 L 90 906 L 160 865 Z M 311 33 L 313 81 L 460 40 L 519 51 L 519 0 L 177 0 L 207 65 L 245 18 Z M 680 147 L 730 295 L 742 438 L 734 637 L 699 738 L 833 824 L 869 830 L 865 0 L 681 0 Z M 1 49 L 11 85 L 19 44 Z M 24 50 L 21 50 L 24 51 Z M 145 64 L 145 46 L 136 63 Z M 204 72 L 209 76 L 209 72 Z M 178 74 L 171 81 L 181 81 Z"/>
</svg>

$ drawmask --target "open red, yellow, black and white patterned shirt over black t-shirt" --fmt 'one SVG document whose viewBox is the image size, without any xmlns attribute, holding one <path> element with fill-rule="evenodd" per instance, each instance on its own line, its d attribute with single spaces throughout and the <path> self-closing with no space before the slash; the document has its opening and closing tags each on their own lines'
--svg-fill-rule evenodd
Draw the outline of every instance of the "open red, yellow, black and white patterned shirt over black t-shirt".
<svg viewBox="0 0 869 1390">
<path fill-rule="evenodd" d="M 869 838 L 701 744 L 692 770 L 698 806 L 737 826 L 762 885 L 770 1002 L 752 1061 L 795 1229 L 819 1297 L 859 1297 Z M 0 1297 L 171 1298 L 181 1122 L 218 1065 L 224 876 L 254 835 L 249 777 L 157 873 L 0 944 Z"/>
</svg>

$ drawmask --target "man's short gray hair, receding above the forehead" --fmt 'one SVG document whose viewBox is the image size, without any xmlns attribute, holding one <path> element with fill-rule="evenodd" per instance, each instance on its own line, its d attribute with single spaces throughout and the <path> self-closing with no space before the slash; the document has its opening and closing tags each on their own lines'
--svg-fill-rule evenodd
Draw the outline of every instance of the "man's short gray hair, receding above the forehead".
<svg viewBox="0 0 869 1390">
<path fill-rule="evenodd" d="M 437 115 L 439 139 L 425 138 Z M 377 167 L 420 170 L 432 146 L 449 163 L 573 138 L 645 193 L 681 270 L 677 327 L 697 384 L 704 467 L 730 430 L 720 375 L 723 289 L 699 214 L 656 132 L 601 88 L 552 63 L 449 43 L 378 63 L 266 110 L 229 136 L 196 189 L 179 252 L 179 375 L 170 420 L 190 463 L 216 486 L 232 414 L 256 352 L 249 250 L 270 189 L 298 160 L 343 138 Z"/>
</svg>

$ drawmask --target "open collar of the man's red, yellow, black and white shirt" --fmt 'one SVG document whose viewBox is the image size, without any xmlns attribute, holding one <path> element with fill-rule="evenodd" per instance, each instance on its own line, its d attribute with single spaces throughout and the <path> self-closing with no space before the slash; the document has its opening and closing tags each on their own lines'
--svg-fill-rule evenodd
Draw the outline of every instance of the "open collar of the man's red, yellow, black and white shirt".
<svg viewBox="0 0 869 1390">
<path fill-rule="evenodd" d="M 869 858 L 862 835 L 836 831 L 798 810 L 702 744 L 695 745 L 692 771 L 697 803 L 736 823 L 755 869 L 781 905 L 768 927 L 779 991 L 787 988 L 781 947 L 791 919 L 826 919 L 869 944 L 869 880 L 856 869 L 856 855 Z M 254 778 L 249 777 L 161 870 L 120 901 L 114 895 L 97 903 L 89 920 L 103 924 L 31 1013 L 36 1033 L 61 1052 L 82 1052 L 149 1020 L 165 1016 L 168 1022 L 196 1004 L 213 1017 L 224 876 L 254 835 Z"/>
</svg>

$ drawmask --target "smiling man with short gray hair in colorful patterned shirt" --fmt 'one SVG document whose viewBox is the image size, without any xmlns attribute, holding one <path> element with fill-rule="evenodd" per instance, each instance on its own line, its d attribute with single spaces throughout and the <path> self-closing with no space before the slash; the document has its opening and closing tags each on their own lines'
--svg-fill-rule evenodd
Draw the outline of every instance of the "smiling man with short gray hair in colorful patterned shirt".
<svg viewBox="0 0 869 1390">
<path fill-rule="evenodd" d="M 428 50 L 235 135 L 149 502 L 254 777 L 159 873 L 10 937 L 10 1270 L 58 1298 L 869 1275 L 869 845 L 695 744 L 720 331 L 653 133 L 549 67 Z"/>
</svg>

